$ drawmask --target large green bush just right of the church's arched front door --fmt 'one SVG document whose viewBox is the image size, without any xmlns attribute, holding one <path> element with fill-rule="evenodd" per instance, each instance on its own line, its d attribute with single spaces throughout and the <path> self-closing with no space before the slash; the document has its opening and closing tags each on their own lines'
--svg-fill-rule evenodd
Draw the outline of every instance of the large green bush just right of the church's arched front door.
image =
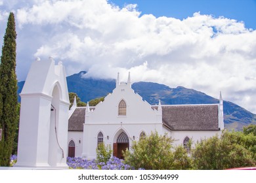
<svg viewBox="0 0 256 183">
<path fill-rule="evenodd" d="M 167 135 L 152 132 L 149 136 L 133 141 L 131 150 L 124 152 L 125 163 L 148 170 L 188 169 L 191 159 L 182 146 L 173 148 L 173 141 Z"/>
</svg>

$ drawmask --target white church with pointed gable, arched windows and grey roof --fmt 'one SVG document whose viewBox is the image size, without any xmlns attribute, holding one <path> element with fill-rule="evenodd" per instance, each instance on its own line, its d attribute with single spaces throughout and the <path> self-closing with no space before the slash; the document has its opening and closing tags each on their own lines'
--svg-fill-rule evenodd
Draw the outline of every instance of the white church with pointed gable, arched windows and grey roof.
<svg viewBox="0 0 256 183">
<path fill-rule="evenodd" d="M 100 142 L 112 146 L 113 155 L 123 158 L 122 150 L 130 148 L 132 141 L 153 131 L 167 133 L 174 144 L 186 144 L 190 139 L 212 137 L 224 129 L 223 100 L 209 105 L 150 105 L 127 82 L 116 80 L 116 88 L 96 107 L 70 109 L 68 120 L 68 156 L 96 158 Z"/>
</svg>

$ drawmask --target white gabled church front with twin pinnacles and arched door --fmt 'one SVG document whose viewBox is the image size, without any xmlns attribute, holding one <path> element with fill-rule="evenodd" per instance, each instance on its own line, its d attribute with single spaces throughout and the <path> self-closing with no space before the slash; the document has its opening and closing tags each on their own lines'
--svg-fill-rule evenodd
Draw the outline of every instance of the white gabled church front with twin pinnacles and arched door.
<svg viewBox="0 0 256 183">
<path fill-rule="evenodd" d="M 119 114 L 121 101 L 125 103 L 125 115 Z M 96 146 L 100 132 L 105 144 L 111 146 L 116 144 L 118 149 L 117 138 L 120 133 L 123 132 L 127 135 L 129 146 L 131 146 L 132 141 L 139 140 L 140 133 L 149 134 L 154 130 L 160 134 L 165 132 L 162 126 L 161 112 L 152 109 L 149 103 L 143 101 L 142 97 L 133 91 L 130 75 L 127 83 L 119 82 L 118 75 L 113 93 L 107 95 L 104 102 L 96 105 L 95 110 L 88 110 L 87 108 L 85 124 L 83 125 L 82 156 L 87 159 L 96 157 Z"/>
</svg>

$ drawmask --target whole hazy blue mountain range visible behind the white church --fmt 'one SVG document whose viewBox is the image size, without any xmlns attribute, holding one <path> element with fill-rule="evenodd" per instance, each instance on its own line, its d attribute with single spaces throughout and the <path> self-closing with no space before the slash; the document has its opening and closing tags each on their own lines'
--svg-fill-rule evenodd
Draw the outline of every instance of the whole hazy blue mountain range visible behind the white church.
<svg viewBox="0 0 256 183">
<path fill-rule="evenodd" d="M 112 93 L 116 87 L 116 80 L 104 80 L 95 78 L 81 78 L 85 71 L 67 76 L 68 92 L 77 93 L 81 101 L 85 103 L 91 99 L 103 97 Z M 24 81 L 18 82 L 18 93 L 22 91 Z M 133 90 L 148 103 L 155 105 L 159 99 L 161 104 L 181 105 L 181 104 L 211 104 L 219 103 L 219 99 L 215 99 L 205 93 L 196 90 L 178 86 L 177 88 L 169 88 L 164 84 L 154 82 L 135 82 L 132 85 Z M 19 97 L 20 101 L 20 97 Z M 234 103 L 224 101 L 224 125 L 227 129 L 242 130 L 244 125 L 256 124 L 256 115 L 245 110 Z"/>
</svg>

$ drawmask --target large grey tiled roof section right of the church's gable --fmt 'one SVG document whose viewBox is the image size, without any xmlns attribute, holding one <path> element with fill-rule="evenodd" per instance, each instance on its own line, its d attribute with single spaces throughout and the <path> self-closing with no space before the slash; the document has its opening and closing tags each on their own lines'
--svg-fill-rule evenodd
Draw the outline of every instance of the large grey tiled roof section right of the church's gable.
<svg viewBox="0 0 256 183">
<path fill-rule="evenodd" d="M 219 130 L 218 105 L 163 105 L 163 124 L 171 130 Z"/>
</svg>

